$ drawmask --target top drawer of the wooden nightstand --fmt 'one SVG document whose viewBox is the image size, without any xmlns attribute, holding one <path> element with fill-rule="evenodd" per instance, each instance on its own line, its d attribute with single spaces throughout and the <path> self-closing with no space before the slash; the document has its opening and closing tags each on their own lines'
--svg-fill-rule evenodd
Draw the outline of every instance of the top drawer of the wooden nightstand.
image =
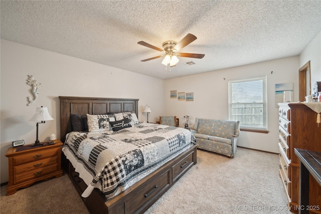
<svg viewBox="0 0 321 214">
<path fill-rule="evenodd" d="M 61 148 L 59 147 L 21 154 L 19 156 L 13 157 L 13 164 L 14 166 L 16 166 L 19 164 L 28 163 L 30 161 L 40 160 L 52 156 L 58 156 L 58 153 L 60 151 Z"/>
</svg>

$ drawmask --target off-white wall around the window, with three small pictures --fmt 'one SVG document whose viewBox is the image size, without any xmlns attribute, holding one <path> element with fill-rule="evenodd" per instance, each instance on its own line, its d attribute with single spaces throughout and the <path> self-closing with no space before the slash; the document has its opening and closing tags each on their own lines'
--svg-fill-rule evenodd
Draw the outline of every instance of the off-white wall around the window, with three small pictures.
<svg viewBox="0 0 321 214">
<path fill-rule="evenodd" d="M 242 131 L 238 145 L 270 152 L 278 152 L 278 108 L 275 107 L 275 84 L 293 83 L 294 101 L 298 101 L 299 58 L 289 57 L 246 66 L 192 75 L 165 82 L 166 114 L 180 118 L 184 115 L 195 118 L 228 119 L 228 80 L 267 76 L 268 134 Z M 271 72 L 273 73 L 271 74 Z M 225 78 L 225 80 L 224 80 Z M 194 101 L 179 101 L 170 98 L 170 91 L 194 92 Z"/>
</svg>

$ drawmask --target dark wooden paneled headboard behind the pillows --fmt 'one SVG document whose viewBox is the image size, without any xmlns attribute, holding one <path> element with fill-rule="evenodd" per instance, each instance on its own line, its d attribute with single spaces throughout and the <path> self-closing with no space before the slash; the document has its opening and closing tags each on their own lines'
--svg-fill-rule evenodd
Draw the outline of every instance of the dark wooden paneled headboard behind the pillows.
<svg viewBox="0 0 321 214">
<path fill-rule="evenodd" d="M 70 115 L 104 114 L 135 111 L 138 118 L 138 99 L 59 97 L 60 99 L 60 139 L 64 143 L 66 134 L 72 131 Z"/>
</svg>

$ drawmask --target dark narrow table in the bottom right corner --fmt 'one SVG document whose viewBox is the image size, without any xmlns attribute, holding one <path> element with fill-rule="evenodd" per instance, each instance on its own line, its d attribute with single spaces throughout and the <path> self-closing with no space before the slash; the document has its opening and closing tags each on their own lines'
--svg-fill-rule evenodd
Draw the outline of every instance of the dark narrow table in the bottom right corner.
<svg viewBox="0 0 321 214">
<path fill-rule="evenodd" d="M 300 160 L 299 176 L 299 213 L 309 213 L 309 209 L 320 209 L 309 206 L 309 174 L 321 185 L 321 152 L 294 148 Z"/>
</svg>

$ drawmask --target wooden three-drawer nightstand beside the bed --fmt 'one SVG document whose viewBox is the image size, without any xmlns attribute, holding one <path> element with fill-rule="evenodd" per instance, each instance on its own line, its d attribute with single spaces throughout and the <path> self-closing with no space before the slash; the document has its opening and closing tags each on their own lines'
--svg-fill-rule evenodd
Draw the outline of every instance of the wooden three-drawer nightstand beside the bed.
<svg viewBox="0 0 321 214">
<path fill-rule="evenodd" d="M 7 195 L 37 181 L 62 176 L 61 146 L 63 143 L 60 140 L 54 140 L 54 143 L 22 151 L 16 151 L 17 147 L 8 149 L 6 154 L 9 158 Z"/>
</svg>

